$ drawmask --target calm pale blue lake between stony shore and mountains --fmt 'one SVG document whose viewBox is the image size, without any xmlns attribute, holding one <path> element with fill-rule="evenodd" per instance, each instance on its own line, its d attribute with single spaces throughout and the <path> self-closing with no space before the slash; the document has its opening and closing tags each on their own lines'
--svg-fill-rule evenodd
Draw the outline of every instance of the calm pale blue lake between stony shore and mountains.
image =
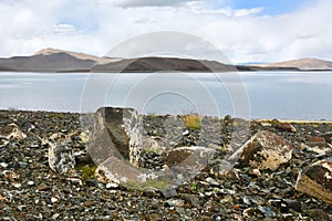
<svg viewBox="0 0 332 221">
<path fill-rule="evenodd" d="M 0 108 L 332 120 L 332 72 L 18 73 L 0 72 Z"/>
</svg>

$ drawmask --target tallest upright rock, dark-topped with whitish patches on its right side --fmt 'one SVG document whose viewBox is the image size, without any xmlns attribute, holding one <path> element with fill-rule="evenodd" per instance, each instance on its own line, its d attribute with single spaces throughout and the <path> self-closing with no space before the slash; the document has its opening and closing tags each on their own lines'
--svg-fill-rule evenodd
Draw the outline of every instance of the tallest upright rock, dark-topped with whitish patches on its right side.
<svg viewBox="0 0 332 221">
<path fill-rule="evenodd" d="M 138 166 L 141 129 L 142 119 L 135 109 L 102 107 L 96 113 L 87 151 L 96 165 L 116 157 Z"/>
</svg>

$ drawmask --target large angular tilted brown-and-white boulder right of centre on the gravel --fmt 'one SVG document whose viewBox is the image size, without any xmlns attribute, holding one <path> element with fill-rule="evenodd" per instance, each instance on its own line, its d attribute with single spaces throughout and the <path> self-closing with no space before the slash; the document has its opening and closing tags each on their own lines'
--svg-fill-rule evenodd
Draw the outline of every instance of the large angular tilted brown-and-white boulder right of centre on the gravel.
<svg viewBox="0 0 332 221">
<path fill-rule="evenodd" d="M 240 166 L 250 165 L 257 169 L 276 171 L 281 164 L 292 157 L 292 145 L 283 137 L 261 130 L 238 149 L 228 161 L 238 161 Z"/>
</svg>

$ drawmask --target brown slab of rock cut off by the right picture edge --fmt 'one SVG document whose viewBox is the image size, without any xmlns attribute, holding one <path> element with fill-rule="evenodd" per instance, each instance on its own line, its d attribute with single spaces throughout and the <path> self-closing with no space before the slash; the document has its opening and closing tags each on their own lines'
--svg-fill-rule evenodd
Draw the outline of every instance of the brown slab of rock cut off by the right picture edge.
<svg viewBox="0 0 332 221">
<path fill-rule="evenodd" d="M 299 173 L 295 189 L 332 204 L 332 159 L 305 167 Z"/>
</svg>

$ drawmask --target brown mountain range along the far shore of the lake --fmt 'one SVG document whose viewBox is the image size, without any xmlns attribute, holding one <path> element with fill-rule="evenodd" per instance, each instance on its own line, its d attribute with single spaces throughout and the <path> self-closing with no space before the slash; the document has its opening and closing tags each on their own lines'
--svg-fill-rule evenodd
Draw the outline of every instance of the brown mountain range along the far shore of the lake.
<svg viewBox="0 0 332 221">
<path fill-rule="evenodd" d="M 11 72 L 231 72 L 231 71 L 328 71 L 332 62 L 300 59 L 269 64 L 230 65 L 216 61 L 179 57 L 98 57 L 84 53 L 44 49 L 31 56 L 0 59 L 0 71 Z"/>
</svg>

